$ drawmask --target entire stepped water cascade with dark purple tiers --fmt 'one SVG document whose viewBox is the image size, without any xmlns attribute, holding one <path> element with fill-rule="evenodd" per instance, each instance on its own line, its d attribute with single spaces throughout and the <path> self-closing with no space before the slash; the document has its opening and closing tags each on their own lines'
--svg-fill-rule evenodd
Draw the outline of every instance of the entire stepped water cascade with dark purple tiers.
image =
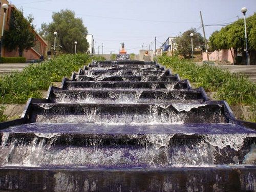
<svg viewBox="0 0 256 192">
<path fill-rule="evenodd" d="M 256 190 L 255 123 L 156 62 L 93 61 L 0 129 L 0 190 Z"/>
</svg>

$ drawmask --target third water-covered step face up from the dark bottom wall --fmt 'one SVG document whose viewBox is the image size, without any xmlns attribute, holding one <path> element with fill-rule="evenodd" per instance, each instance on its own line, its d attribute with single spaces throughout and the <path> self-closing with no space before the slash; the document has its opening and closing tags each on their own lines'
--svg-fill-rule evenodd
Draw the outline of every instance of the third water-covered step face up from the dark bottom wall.
<svg viewBox="0 0 256 192">
<path fill-rule="evenodd" d="M 202 103 L 202 90 L 136 91 L 136 90 L 53 90 L 52 102 L 62 103 Z"/>
</svg>

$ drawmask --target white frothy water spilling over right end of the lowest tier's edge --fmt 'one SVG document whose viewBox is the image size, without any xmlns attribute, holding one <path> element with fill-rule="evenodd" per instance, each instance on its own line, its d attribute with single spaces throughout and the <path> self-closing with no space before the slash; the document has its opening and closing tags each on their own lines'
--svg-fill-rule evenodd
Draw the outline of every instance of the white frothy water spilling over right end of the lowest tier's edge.
<svg viewBox="0 0 256 192">
<path fill-rule="evenodd" d="M 245 138 L 256 137 L 256 134 L 221 134 L 221 135 L 205 135 L 204 140 L 212 146 L 224 148 L 230 146 L 238 151 L 243 146 Z"/>
</svg>

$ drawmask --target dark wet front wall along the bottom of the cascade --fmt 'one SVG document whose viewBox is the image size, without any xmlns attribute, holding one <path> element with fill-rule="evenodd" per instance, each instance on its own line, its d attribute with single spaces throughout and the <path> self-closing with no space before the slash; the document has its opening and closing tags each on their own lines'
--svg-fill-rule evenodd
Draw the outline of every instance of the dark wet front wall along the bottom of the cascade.
<svg viewBox="0 0 256 192">
<path fill-rule="evenodd" d="M 159 169 L 2 167 L 0 187 L 13 191 L 255 191 L 251 182 L 255 177 L 255 166 Z"/>
</svg>

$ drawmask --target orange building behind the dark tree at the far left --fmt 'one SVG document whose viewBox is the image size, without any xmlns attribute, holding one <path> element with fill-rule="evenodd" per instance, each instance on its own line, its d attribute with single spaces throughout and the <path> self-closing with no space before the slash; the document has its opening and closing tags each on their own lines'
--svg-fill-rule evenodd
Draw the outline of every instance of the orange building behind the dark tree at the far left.
<svg viewBox="0 0 256 192">
<path fill-rule="evenodd" d="M 9 5 L 9 2 L 4 0 L 4 1 L 0 1 L 0 8 L 1 6 L 5 3 Z M 4 14 L 4 10 L 1 8 L 1 15 Z M 9 5 L 9 8 L 6 12 L 6 19 L 5 19 L 5 30 L 9 29 L 9 25 L 10 25 L 10 19 L 12 16 L 12 12 L 14 10 L 17 10 L 17 8 L 14 5 Z M 2 31 L 2 26 L 3 26 L 3 19 L 1 17 L 1 22 L 0 22 L 0 29 Z M 41 55 L 46 56 L 46 48 L 47 48 L 47 42 L 35 31 L 33 30 L 33 32 L 35 33 L 35 46 L 28 49 L 28 50 L 24 50 L 23 52 L 23 57 L 25 57 L 27 60 L 30 59 L 39 59 L 41 57 Z M 2 56 L 3 57 L 18 57 L 18 50 L 12 50 L 12 51 L 8 51 L 6 48 L 3 47 L 2 49 Z"/>
</svg>

